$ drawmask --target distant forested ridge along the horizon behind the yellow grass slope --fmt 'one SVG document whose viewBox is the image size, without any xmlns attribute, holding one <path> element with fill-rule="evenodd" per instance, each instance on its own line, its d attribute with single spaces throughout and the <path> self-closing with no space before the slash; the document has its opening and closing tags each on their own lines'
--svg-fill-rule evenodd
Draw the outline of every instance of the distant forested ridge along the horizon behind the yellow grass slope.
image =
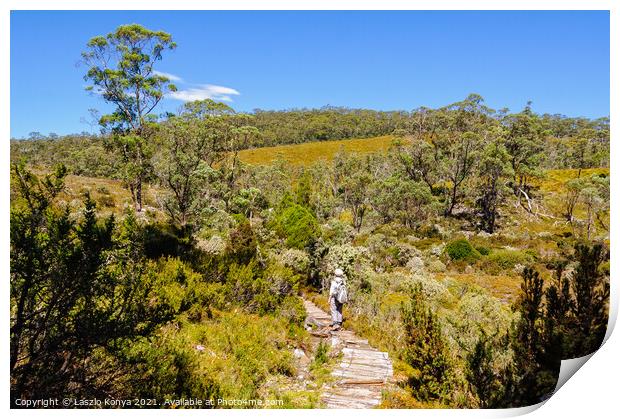
<svg viewBox="0 0 620 419">
<path fill-rule="evenodd" d="M 477 95 L 469 98 L 481 100 Z M 226 106 L 226 105 L 223 105 Z M 370 138 L 430 130 L 439 123 L 442 109 L 419 108 L 413 111 L 381 112 L 370 109 L 324 107 L 311 110 L 262 111 L 237 115 L 250 118 L 249 124 L 259 135 L 236 145 L 239 149 L 302 144 L 325 140 Z M 507 110 L 487 109 L 486 117 L 504 128 L 515 114 Z M 227 109 L 232 120 L 235 112 Z M 530 111 L 531 113 L 531 111 Z M 159 115 L 160 123 L 174 115 Z M 608 165 L 609 118 L 589 120 L 562 115 L 536 115 L 538 129 L 550 141 L 544 143 L 548 156 L 543 168 L 603 167 Z M 233 123 L 234 124 L 234 123 Z M 237 124 L 244 124 L 243 121 Z M 423 126 L 421 126 L 421 124 Z M 553 140 L 551 140 L 553 139 Z M 583 144 L 576 142 L 587 140 Z M 112 139 L 105 130 L 100 134 L 88 132 L 59 136 L 31 132 L 26 138 L 11 139 L 11 159 L 27 159 L 33 166 L 51 167 L 63 163 L 71 173 L 84 176 L 120 178 L 120 158 L 110 150 Z M 223 147 L 223 146 L 222 146 Z"/>
</svg>

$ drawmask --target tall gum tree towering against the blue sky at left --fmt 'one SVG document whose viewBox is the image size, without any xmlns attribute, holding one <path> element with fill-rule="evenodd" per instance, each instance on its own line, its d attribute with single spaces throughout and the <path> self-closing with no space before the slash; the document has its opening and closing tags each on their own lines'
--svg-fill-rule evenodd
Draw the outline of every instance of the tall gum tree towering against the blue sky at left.
<svg viewBox="0 0 620 419">
<path fill-rule="evenodd" d="M 88 66 L 86 87 L 115 107 L 99 124 L 110 132 L 113 147 L 124 163 L 123 180 L 136 211 L 142 211 L 142 183 L 150 167 L 148 122 L 166 92 L 175 91 L 170 80 L 155 71 L 164 51 L 176 44 L 170 34 L 138 24 L 119 26 L 87 43 L 82 61 Z"/>
</svg>

